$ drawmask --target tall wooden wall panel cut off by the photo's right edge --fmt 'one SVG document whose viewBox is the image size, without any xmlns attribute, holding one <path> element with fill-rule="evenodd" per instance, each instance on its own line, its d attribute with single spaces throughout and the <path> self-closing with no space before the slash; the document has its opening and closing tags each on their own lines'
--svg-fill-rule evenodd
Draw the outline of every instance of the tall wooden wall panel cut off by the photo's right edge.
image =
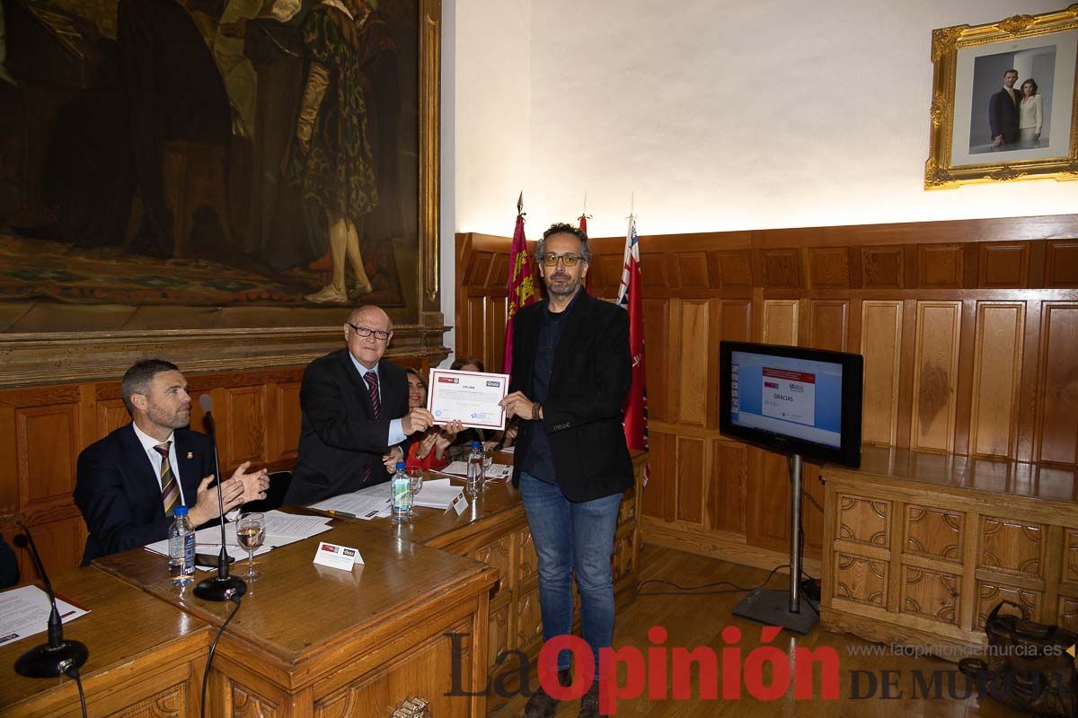
<svg viewBox="0 0 1078 718">
<path fill-rule="evenodd" d="M 1041 306 L 1036 459 L 1078 461 L 1078 302 Z"/>
</svg>

